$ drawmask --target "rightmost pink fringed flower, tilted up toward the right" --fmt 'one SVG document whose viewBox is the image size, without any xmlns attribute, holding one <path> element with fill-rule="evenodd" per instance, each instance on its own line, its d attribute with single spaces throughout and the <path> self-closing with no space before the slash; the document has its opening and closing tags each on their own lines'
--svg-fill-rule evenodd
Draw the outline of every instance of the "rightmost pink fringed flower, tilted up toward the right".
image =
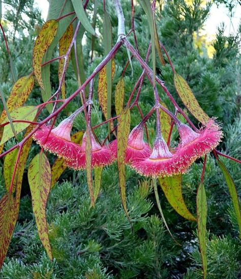
<svg viewBox="0 0 241 279">
<path fill-rule="evenodd" d="M 178 127 L 178 132 L 180 143 L 176 148 L 175 157 L 179 163 L 185 165 L 191 165 L 197 158 L 212 151 L 223 135 L 214 119 L 210 119 L 206 127 L 202 127 L 198 133 L 183 123 Z"/>
</svg>

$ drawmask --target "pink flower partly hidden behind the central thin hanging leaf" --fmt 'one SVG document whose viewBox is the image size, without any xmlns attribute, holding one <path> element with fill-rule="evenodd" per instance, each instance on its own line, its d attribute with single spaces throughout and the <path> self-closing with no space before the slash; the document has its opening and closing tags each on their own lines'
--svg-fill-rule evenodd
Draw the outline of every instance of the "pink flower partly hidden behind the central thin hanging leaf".
<svg viewBox="0 0 241 279">
<path fill-rule="evenodd" d="M 110 143 L 110 149 L 113 157 L 117 157 L 117 140 Z M 152 148 L 143 140 L 143 127 L 136 126 L 130 133 L 128 145 L 126 149 L 126 163 L 130 163 L 134 159 L 148 158 Z"/>
</svg>

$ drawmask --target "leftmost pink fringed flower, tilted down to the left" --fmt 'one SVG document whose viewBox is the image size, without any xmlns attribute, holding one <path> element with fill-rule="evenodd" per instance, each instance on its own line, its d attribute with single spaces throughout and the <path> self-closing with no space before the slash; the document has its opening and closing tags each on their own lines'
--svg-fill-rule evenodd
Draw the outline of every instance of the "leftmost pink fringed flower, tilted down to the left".
<svg viewBox="0 0 241 279">
<path fill-rule="evenodd" d="M 80 145 L 71 142 L 71 129 L 73 121 L 65 119 L 59 125 L 52 129 L 50 126 L 43 125 L 33 135 L 34 140 L 45 150 L 56 154 L 65 160 L 75 160 L 80 152 Z"/>
</svg>

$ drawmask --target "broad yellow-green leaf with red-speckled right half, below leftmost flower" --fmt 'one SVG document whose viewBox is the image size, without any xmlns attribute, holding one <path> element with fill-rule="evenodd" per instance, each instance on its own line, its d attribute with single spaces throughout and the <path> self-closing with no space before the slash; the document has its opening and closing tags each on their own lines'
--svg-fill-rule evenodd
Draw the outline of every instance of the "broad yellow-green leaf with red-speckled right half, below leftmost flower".
<svg viewBox="0 0 241 279">
<path fill-rule="evenodd" d="M 49 258 L 52 260 L 45 212 L 51 186 L 51 168 L 44 152 L 37 154 L 31 161 L 27 177 L 39 237 Z"/>
</svg>

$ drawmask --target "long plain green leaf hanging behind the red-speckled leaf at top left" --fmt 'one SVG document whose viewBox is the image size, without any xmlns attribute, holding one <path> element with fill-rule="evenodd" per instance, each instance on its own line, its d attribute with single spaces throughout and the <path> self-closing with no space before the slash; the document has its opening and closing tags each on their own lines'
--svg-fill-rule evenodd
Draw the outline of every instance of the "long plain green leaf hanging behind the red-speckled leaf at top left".
<svg viewBox="0 0 241 279">
<path fill-rule="evenodd" d="M 70 0 L 49 0 L 49 8 L 48 8 L 48 16 L 47 16 L 47 21 L 50 19 L 57 19 L 59 16 L 69 14 L 74 11 L 73 5 Z M 65 33 L 66 29 L 70 25 L 73 17 L 75 15 L 69 15 L 61 20 L 58 21 L 58 28 L 57 28 L 57 33 L 51 43 L 51 45 L 48 47 L 44 58 L 43 58 L 43 63 L 46 61 L 49 61 L 52 59 L 53 56 L 53 51 L 56 45 L 58 44 L 59 40 Z M 42 67 L 42 81 L 44 85 L 44 89 L 41 89 L 41 95 L 43 98 L 43 101 L 46 102 L 52 95 L 51 90 L 51 84 L 50 84 L 50 64 L 45 65 Z M 46 106 L 47 110 L 49 113 L 52 111 L 53 104 L 48 104 Z"/>
</svg>

